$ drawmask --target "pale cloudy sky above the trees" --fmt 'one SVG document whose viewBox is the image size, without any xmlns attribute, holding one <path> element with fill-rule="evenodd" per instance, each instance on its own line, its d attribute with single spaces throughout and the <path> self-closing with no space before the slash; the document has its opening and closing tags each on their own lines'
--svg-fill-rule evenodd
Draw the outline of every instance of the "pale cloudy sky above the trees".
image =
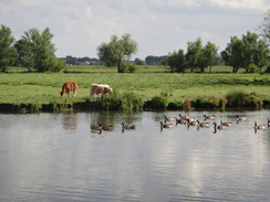
<svg viewBox="0 0 270 202">
<path fill-rule="evenodd" d="M 0 0 L 0 23 L 15 39 L 24 31 L 50 28 L 56 56 L 97 57 L 96 47 L 112 35 L 132 34 L 133 57 L 166 55 L 201 38 L 221 52 L 230 36 L 257 28 L 270 0 Z"/>
</svg>

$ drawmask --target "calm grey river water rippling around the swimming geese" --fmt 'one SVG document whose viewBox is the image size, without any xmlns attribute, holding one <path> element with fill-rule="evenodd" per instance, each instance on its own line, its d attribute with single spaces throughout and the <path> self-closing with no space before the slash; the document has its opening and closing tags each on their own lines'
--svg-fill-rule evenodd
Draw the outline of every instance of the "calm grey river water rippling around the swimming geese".
<svg viewBox="0 0 270 202">
<path fill-rule="evenodd" d="M 209 128 L 173 126 L 188 114 Z M 236 114 L 247 116 L 237 123 Z M 270 201 L 270 110 L 0 114 L 0 201 Z M 212 123 L 231 121 L 215 132 Z M 95 123 L 112 131 L 91 130 Z M 121 123 L 135 124 L 122 131 Z"/>
</svg>

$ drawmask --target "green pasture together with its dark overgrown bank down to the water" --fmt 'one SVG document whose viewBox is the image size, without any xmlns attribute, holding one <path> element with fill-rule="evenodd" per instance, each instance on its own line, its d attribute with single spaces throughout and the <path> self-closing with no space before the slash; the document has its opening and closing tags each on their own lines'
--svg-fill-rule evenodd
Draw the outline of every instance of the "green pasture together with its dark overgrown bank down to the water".
<svg viewBox="0 0 270 202">
<path fill-rule="evenodd" d="M 107 67 L 79 66 L 63 73 L 1 73 L 0 111 L 261 108 L 270 102 L 269 74 L 232 74 L 224 66 L 204 74 L 168 71 L 142 66 L 136 73 L 120 74 Z M 60 96 L 66 81 L 77 81 L 76 97 Z M 114 95 L 91 100 L 92 83 L 111 85 Z"/>
</svg>

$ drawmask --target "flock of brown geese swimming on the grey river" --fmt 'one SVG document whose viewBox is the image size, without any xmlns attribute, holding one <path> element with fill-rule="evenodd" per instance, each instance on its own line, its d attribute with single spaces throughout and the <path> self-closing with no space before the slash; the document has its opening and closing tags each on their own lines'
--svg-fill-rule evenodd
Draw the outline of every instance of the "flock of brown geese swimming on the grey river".
<svg viewBox="0 0 270 202">
<path fill-rule="evenodd" d="M 226 123 L 220 120 L 220 124 L 218 124 L 216 121 L 216 117 L 215 115 L 202 115 L 202 120 L 196 119 L 195 117 L 190 117 L 188 115 L 181 115 L 178 114 L 178 117 L 168 117 L 166 115 L 164 115 L 164 119 L 159 121 L 160 124 L 160 130 L 163 130 L 164 128 L 173 128 L 175 125 L 181 124 L 181 125 L 186 125 L 187 127 L 197 127 L 197 129 L 199 128 L 209 128 L 209 127 L 214 127 L 214 132 L 216 134 L 217 130 L 226 130 L 229 127 L 232 126 L 232 123 Z M 236 123 L 239 124 L 240 121 L 247 121 L 247 117 L 246 116 L 240 116 L 240 115 L 236 115 Z M 136 127 L 133 124 L 124 124 L 121 123 L 122 126 L 122 132 L 124 132 L 124 130 L 134 130 Z M 270 118 L 267 119 L 267 124 L 266 125 L 258 125 L 257 121 L 255 121 L 255 132 L 257 132 L 257 130 L 264 130 L 267 127 L 270 128 Z M 102 124 L 101 121 L 98 121 L 97 124 L 91 124 L 90 125 L 91 128 L 91 132 L 93 134 L 98 134 L 101 135 L 102 131 L 111 131 L 114 129 L 113 125 L 105 125 Z"/>
</svg>

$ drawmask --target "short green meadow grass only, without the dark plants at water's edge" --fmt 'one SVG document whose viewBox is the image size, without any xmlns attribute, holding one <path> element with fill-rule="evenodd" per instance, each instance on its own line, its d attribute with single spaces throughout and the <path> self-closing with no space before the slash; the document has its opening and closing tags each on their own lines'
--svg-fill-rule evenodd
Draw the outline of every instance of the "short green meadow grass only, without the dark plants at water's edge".
<svg viewBox="0 0 270 202">
<path fill-rule="evenodd" d="M 168 102 L 224 98 L 231 92 L 270 100 L 269 74 L 231 74 L 230 67 L 216 66 L 211 73 L 169 73 L 163 66 L 143 66 L 133 74 L 120 74 L 104 66 L 69 66 L 63 73 L 28 73 L 10 68 L 0 74 L 0 104 L 66 104 L 90 100 L 90 84 L 113 86 L 117 94 L 134 93 L 143 102 L 163 95 Z M 77 81 L 76 97 L 61 97 L 62 84 Z"/>
</svg>

